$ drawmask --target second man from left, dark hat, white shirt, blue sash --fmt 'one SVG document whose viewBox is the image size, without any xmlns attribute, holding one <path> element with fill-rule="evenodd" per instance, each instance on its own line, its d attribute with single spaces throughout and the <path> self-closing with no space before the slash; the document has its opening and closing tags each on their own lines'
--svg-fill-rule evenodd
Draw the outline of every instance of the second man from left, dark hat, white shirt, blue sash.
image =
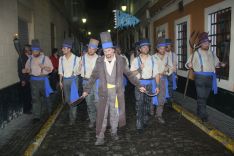
<svg viewBox="0 0 234 156">
<path fill-rule="evenodd" d="M 74 55 L 72 39 L 65 39 L 62 45 L 63 56 L 59 58 L 59 85 L 65 95 L 65 103 L 69 104 L 79 98 L 78 94 L 78 67 L 80 58 Z M 69 108 L 69 124 L 73 125 L 76 120 L 77 107 Z"/>
</svg>

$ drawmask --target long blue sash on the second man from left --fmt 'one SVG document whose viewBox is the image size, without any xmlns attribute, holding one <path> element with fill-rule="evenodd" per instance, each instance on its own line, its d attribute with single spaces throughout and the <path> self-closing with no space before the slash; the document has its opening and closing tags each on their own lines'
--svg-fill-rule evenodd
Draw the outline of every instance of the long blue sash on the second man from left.
<svg viewBox="0 0 234 156">
<path fill-rule="evenodd" d="M 70 103 L 72 103 L 76 101 L 77 99 L 79 99 L 78 88 L 77 88 L 77 83 L 76 83 L 77 77 L 76 76 L 64 77 L 63 79 L 64 81 L 72 80 L 71 89 L 70 89 Z"/>
</svg>

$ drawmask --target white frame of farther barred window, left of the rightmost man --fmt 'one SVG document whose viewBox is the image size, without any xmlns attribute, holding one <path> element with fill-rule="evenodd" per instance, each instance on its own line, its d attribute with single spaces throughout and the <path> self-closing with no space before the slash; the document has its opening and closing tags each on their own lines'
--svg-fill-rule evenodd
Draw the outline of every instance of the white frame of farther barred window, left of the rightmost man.
<svg viewBox="0 0 234 156">
<path fill-rule="evenodd" d="M 190 47 L 189 47 L 189 36 L 190 36 L 190 15 L 184 16 L 182 18 L 179 18 L 177 20 L 175 20 L 174 22 L 174 32 L 175 34 L 175 52 L 176 54 L 178 54 L 178 43 L 177 43 L 177 38 L 178 38 L 178 34 L 177 34 L 177 24 L 183 23 L 183 22 L 187 22 L 187 58 L 190 56 Z M 179 57 L 178 57 L 179 59 Z M 182 76 L 182 77 L 187 77 L 187 71 L 184 70 L 178 70 L 177 74 Z"/>
</svg>

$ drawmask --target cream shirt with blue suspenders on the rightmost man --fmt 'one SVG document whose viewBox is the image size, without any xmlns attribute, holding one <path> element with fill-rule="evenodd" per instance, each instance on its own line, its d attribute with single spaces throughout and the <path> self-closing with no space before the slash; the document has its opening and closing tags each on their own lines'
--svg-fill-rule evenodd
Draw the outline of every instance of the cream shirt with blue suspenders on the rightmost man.
<svg viewBox="0 0 234 156">
<path fill-rule="evenodd" d="M 203 72 L 215 72 L 215 67 L 219 65 L 219 59 L 216 56 L 216 54 L 213 53 L 208 50 L 208 51 L 204 51 L 201 49 L 198 49 L 199 53 L 201 54 L 201 58 L 202 58 L 202 63 L 203 63 Z M 188 68 L 188 63 L 191 62 L 192 59 L 192 55 L 190 55 L 188 61 L 185 64 L 185 67 Z M 195 51 L 194 52 L 194 57 L 193 57 L 193 70 L 195 72 L 200 72 L 201 71 L 201 62 L 200 62 L 200 58 L 198 55 L 198 52 Z"/>
</svg>

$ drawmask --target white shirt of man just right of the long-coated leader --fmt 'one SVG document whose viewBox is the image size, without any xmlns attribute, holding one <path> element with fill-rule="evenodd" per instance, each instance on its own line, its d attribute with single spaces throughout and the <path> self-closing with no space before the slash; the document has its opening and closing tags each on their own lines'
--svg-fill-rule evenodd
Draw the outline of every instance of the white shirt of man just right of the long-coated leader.
<svg viewBox="0 0 234 156">
<path fill-rule="evenodd" d="M 136 71 L 140 67 L 139 63 L 141 64 L 141 62 L 139 62 L 139 57 L 136 57 L 136 58 L 133 59 L 132 64 L 131 64 L 131 68 L 130 68 L 131 71 Z M 144 64 L 144 68 L 142 69 L 141 74 L 138 73 L 136 75 L 136 77 L 138 79 L 140 79 L 140 78 L 150 79 L 152 77 L 155 77 L 158 74 L 157 61 L 151 55 L 148 55 L 147 59 L 142 63 Z"/>
</svg>

